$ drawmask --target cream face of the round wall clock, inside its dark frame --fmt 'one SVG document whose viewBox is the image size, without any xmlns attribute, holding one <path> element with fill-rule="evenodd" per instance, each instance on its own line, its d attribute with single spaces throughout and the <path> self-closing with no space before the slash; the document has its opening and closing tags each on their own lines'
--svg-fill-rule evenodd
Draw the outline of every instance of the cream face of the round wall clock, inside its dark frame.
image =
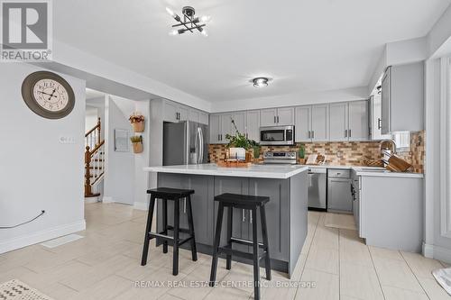
<svg viewBox="0 0 451 300">
<path fill-rule="evenodd" d="M 63 111 L 69 104 L 68 91 L 53 79 L 41 79 L 36 82 L 32 95 L 38 105 L 50 112 Z"/>
</svg>

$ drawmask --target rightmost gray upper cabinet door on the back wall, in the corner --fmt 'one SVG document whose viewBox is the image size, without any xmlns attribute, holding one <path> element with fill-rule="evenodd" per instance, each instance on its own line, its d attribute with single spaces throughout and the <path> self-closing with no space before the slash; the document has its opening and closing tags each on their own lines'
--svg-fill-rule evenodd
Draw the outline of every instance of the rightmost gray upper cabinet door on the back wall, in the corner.
<svg viewBox="0 0 451 300">
<path fill-rule="evenodd" d="M 348 104 L 349 141 L 367 141 L 370 134 L 368 123 L 368 101 L 353 101 Z"/>
</svg>

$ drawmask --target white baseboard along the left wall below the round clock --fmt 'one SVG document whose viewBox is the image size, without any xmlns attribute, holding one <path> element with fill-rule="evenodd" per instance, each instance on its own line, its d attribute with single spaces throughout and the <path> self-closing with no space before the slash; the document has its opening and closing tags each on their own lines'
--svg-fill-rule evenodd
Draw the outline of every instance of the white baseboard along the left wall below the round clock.
<svg viewBox="0 0 451 300">
<path fill-rule="evenodd" d="M 24 234 L 13 239 L 0 241 L 0 254 L 8 251 L 20 249 L 26 246 L 40 243 L 42 241 L 49 241 L 60 236 L 67 235 L 74 232 L 81 232 L 86 229 L 85 220 L 76 223 L 63 224 L 52 227 L 41 232 L 33 232 Z"/>
</svg>

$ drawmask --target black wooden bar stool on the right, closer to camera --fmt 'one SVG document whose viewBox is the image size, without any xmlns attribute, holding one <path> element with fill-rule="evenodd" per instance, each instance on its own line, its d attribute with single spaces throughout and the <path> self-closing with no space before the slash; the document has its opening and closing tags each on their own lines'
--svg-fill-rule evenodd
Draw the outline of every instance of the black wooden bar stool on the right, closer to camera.
<svg viewBox="0 0 451 300">
<path fill-rule="evenodd" d="M 260 299 L 260 266 L 259 261 L 264 257 L 264 267 L 266 269 L 266 279 L 271 280 L 271 259 L 268 246 L 268 231 L 266 228 L 266 214 L 264 205 L 270 201 L 270 197 L 256 195 L 238 195 L 221 194 L 215 196 L 215 201 L 219 202 L 217 211 L 215 244 L 213 246 L 213 259 L 211 264 L 211 274 L 209 286 L 215 286 L 217 257 L 221 253 L 226 253 L 226 268 L 230 269 L 232 265 L 232 256 L 239 256 L 244 259 L 253 260 L 253 291 L 254 299 Z M 227 207 L 227 244 L 219 247 L 221 240 L 221 226 L 223 222 L 224 207 Z M 262 243 L 257 241 L 257 222 L 253 222 L 253 241 L 236 239 L 232 236 L 233 209 L 251 210 L 253 215 L 257 215 L 257 208 L 260 208 L 260 220 L 262 221 Z M 253 253 L 238 251 L 232 249 L 232 243 L 239 243 L 253 246 Z M 259 248 L 262 248 L 262 254 L 259 254 Z"/>
</svg>

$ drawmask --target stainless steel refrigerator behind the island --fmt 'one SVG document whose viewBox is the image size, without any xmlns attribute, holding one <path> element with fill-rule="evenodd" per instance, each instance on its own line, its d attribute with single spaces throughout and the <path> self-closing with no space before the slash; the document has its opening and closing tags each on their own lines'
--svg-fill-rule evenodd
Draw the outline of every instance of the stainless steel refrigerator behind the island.
<svg viewBox="0 0 451 300">
<path fill-rule="evenodd" d="M 163 124 L 163 166 L 207 163 L 208 126 L 185 121 Z"/>
</svg>

